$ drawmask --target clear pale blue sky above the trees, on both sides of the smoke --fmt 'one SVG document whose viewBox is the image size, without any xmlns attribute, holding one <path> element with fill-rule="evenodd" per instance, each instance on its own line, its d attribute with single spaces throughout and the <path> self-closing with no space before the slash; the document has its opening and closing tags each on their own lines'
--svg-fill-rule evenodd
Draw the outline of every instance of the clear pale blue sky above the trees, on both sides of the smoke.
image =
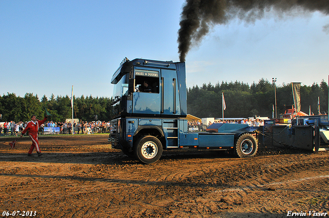
<svg viewBox="0 0 329 218">
<path fill-rule="evenodd" d="M 112 95 L 124 57 L 179 61 L 185 1 L 0 1 L 0 94 Z M 326 82 L 329 16 L 270 11 L 254 23 L 215 26 L 187 54 L 187 86 L 262 77 Z M 327 26 L 326 26 L 327 25 Z"/>
</svg>

